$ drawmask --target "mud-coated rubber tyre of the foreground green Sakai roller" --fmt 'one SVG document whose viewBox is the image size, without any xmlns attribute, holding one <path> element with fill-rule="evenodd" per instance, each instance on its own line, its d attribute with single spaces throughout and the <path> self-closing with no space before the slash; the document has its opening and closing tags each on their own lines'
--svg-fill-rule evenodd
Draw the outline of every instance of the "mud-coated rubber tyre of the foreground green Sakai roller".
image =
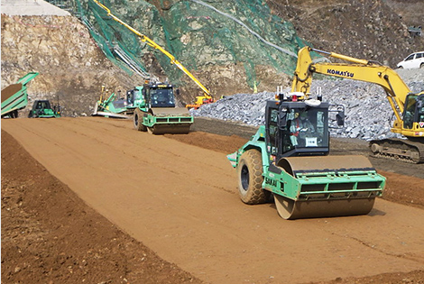
<svg viewBox="0 0 424 284">
<path fill-rule="evenodd" d="M 261 152 L 251 149 L 240 157 L 237 166 L 238 192 L 245 204 L 266 203 L 271 193 L 263 189 L 263 162 Z"/>
</svg>

